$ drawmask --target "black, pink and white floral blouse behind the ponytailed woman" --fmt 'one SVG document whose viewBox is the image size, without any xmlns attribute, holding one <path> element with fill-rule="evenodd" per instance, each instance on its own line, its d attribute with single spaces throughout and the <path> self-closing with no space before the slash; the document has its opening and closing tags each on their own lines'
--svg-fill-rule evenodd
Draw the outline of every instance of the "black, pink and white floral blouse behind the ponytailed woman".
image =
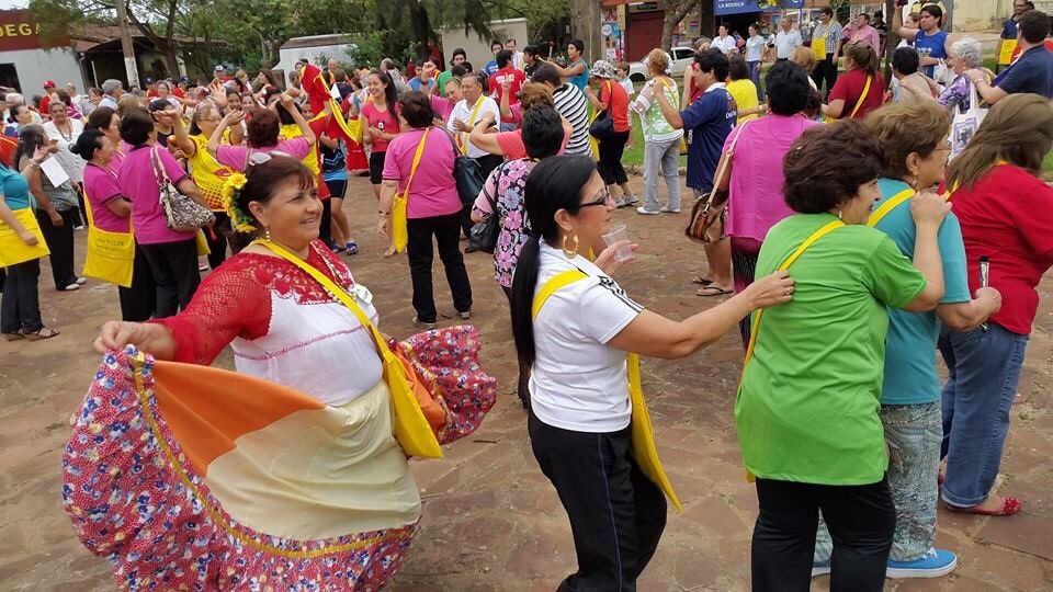
<svg viewBox="0 0 1053 592">
<path fill-rule="evenodd" d="M 526 242 L 530 231 L 523 190 L 534 164 L 529 158 L 501 164 L 487 178 L 483 192 L 472 206 L 472 210 L 484 219 L 495 213 L 499 216 L 501 230 L 494 248 L 494 278 L 501 287 L 512 287 L 512 274 L 516 272 L 516 262 L 519 261 L 519 251 Z"/>
</svg>

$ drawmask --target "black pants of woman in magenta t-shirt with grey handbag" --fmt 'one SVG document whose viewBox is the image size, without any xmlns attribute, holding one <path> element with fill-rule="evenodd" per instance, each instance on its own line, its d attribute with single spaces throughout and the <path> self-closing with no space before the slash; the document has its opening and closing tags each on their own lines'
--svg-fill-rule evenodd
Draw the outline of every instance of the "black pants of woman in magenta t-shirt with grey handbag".
<svg viewBox="0 0 1053 592">
<path fill-rule="evenodd" d="M 177 242 L 143 244 L 143 252 L 150 264 L 150 273 L 157 284 L 157 308 L 155 317 L 171 317 L 186 308 L 201 273 L 197 271 L 197 241 L 194 239 Z"/>
</svg>

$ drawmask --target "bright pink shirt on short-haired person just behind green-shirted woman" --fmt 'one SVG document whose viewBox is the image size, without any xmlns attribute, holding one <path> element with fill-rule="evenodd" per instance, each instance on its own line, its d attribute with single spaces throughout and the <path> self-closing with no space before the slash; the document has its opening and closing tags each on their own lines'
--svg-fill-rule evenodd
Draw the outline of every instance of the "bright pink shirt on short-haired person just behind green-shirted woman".
<svg viewBox="0 0 1053 592">
<path fill-rule="evenodd" d="M 772 226 L 793 214 L 782 195 L 782 157 L 813 125 L 822 124 L 801 115 L 771 114 L 747 122 L 728 134 L 725 151 L 736 136 L 741 137 L 732 157 L 727 236 L 763 242 Z"/>
</svg>

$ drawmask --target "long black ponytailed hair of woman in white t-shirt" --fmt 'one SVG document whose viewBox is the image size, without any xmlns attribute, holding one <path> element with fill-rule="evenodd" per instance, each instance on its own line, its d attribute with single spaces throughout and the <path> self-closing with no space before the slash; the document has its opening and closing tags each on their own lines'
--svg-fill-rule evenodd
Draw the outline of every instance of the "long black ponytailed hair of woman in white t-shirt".
<svg viewBox="0 0 1053 592">
<path fill-rule="evenodd" d="M 529 113 L 529 112 L 528 112 Z M 519 252 L 512 280 L 512 334 L 523 364 L 534 363 L 534 292 L 541 261 L 541 239 L 555 246 L 559 237 L 556 212 L 575 215 L 581 209 L 581 191 L 596 174 L 587 156 L 555 156 L 539 162 L 526 178 L 524 205 L 530 238 Z"/>
</svg>

